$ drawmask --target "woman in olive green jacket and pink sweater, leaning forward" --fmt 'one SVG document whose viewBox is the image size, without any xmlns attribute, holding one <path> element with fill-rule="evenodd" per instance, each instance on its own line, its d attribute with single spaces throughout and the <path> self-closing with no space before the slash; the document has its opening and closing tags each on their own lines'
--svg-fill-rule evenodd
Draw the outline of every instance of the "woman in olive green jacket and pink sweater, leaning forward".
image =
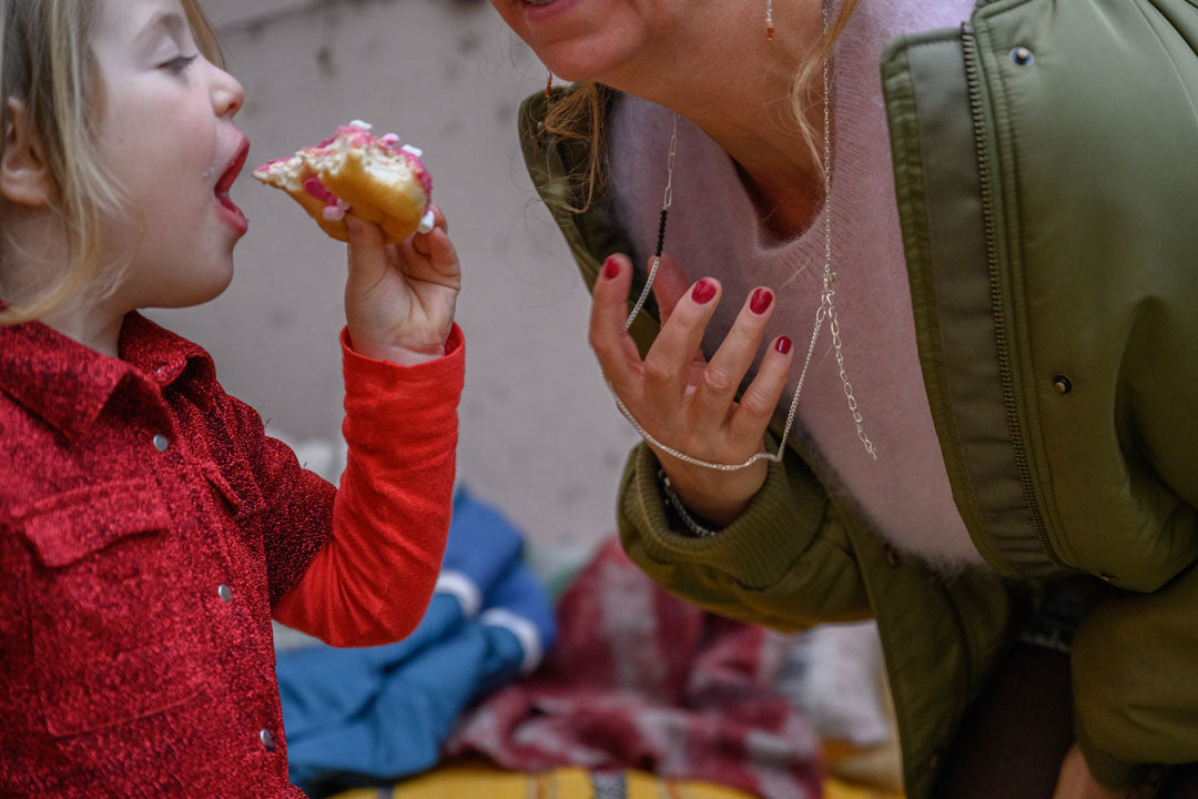
<svg viewBox="0 0 1198 799">
<path fill-rule="evenodd" d="M 634 561 L 772 627 L 875 616 L 913 798 L 1198 761 L 1198 10 L 492 4 L 581 81 L 521 135 L 646 438 Z"/>
</svg>

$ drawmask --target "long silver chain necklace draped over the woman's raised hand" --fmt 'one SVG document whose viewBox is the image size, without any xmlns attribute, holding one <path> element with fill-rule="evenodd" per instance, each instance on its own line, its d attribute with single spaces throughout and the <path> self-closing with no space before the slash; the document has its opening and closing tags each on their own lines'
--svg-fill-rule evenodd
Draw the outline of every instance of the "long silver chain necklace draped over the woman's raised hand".
<svg viewBox="0 0 1198 799">
<path fill-rule="evenodd" d="M 823 11 L 824 31 L 828 30 L 828 7 L 824 6 Z M 841 386 L 845 391 L 845 398 L 848 401 L 848 412 L 853 419 L 853 424 L 857 428 L 857 437 L 865 447 L 865 452 L 873 459 L 878 459 L 877 450 L 873 447 L 873 442 L 870 441 L 870 436 L 865 432 L 865 426 L 863 424 L 864 419 L 861 417 L 861 411 L 857 401 L 857 397 L 853 393 L 853 383 L 848 379 L 848 371 L 845 368 L 845 353 L 842 351 L 841 344 L 841 328 L 840 320 L 836 316 L 836 307 L 833 303 L 836 291 L 833 289 L 833 283 L 836 279 L 835 273 L 831 271 L 831 109 L 829 96 L 831 93 L 831 69 L 829 66 L 828 57 L 823 61 L 823 188 L 824 188 L 824 270 L 823 270 L 823 287 L 819 293 L 819 308 L 816 310 L 815 326 L 811 329 L 811 341 L 807 344 L 806 356 L 803 358 L 803 369 L 799 371 L 799 381 L 794 387 L 794 397 L 791 399 L 791 407 L 786 414 L 786 425 L 782 428 L 782 437 L 778 444 L 776 453 L 756 453 L 749 460 L 743 464 L 718 464 L 714 461 L 702 460 L 688 455 L 686 453 L 679 452 L 673 447 L 661 443 L 653 435 L 641 426 L 641 423 L 636 420 L 633 412 L 628 410 L 623 400 L 612 389 L 611 382 L 607 383 L 607 388 L 611 389 L 611 395 L 616 400 L 616 407 L 619 408 L 621 414 L 628 419 L 628 423 L 633 425 L 633 429 L 645 438 L 654 448 L 677 458 L 678 460 L 690 464 L 692 466 L 701 466 L 703 468 L 710 468 L 720 472 L 734 472 L 742 468 L 748 468 L 756 464 L 758 460 L 780 461 L 782 460 L 782 453 L 786 450 L 786 440 L 791 435 L 791 428 L 794 425 L 794 414 L 799 407 L 799 395 L 803 393 L 803 383 L 807 377 L 807 367 L 811 365 L 811 356 L 816 350 L 816 341 L 819 339 L 819 331 L 823 328 L 824 321 L 828 321 L 828 326 L 831 329 L 831 341 L 833 349 L 836 352 L 836 367 L 840 373 Z M 666 189 L 665 196 L 661 202 L 661 217 L 658 224 L 658 247 L 657 252 L 653 254 L 653 266 L 649 268 L 649 276 L 645 282 L 645 287 L 641 290 L 640 297 L 637 297 L 636 303 L 633 305 L 631 313 L 628 315 L 628 320 L 624 322 L 624 329 L 627 331 L 633 325 L 633 320 L 636 319 L 641 309 L 645 308 L 645 303 L 649 297 L 649 291 L 653 289 L 653 280 L 658 274 L 658 266 L 661 264 L 661 248 L 665 243 L 666 232 L 666 217 L 670 211 L 670 206 L 673 205 L 673 168 L 674 157 L 678 152 L 678 115 L 673 116 L 673 131 L 670 134 L 670 157 L 666 162 Z"/>
</svg>

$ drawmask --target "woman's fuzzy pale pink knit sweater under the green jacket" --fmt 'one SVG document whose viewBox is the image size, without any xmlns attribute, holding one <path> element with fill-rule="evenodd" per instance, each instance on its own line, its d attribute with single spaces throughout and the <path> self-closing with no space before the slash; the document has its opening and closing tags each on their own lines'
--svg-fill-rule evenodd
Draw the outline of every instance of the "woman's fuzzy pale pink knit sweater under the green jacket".
<svg viewBox="0 0 1198 799">
<path fill-rule="evenodd" d="M 924 391 L 878 63 L 894 36 L 955 26 L 973 5 L 864 0 L 837 46 L 837 157 L 830 204 L 835 302 L 845 365 L 878 460 L 857 438 L 827 323 L 792 431 L 827 462 L 840 483 L 833 490 L 858 503 L 888 540 L 945 570 L 981 563 L 981 556 L 952 502 Z M 635 97 L 622 99 L 612 120 L 616 214 L 634 244 L 636 264 L 645 264 L 657 241 L 671 120 L 670 110 Z M 691 280 L 714 276 L 724 284 L 724 299 L 703 343 L 708 355 L 746 295 L 758 285 L 774 289 L 778 308 L 768 337 L 789 335 L 798 350 L 783 406 L 791 401 L 819 304 L 824 212 L 797 238 L 774 240 L 732 159 L 701 129 L 679 120 L 665 248 Z"/>
</svg>

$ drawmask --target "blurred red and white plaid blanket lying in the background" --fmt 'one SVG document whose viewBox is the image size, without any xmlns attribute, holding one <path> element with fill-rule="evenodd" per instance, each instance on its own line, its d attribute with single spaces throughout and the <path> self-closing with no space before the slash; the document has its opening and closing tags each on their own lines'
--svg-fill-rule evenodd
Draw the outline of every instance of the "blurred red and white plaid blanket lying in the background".
<svg viewBox="0 0 1198 799">
<path fill-rule="evenodd" d="M 606 544 L 562 597 L 544 666 L 470 712 L 449 753 L 503 768 L 640 768 L 817 799 L 815 733 L 773 688 L 783 636 L 704 613 Z"/>
</svg>

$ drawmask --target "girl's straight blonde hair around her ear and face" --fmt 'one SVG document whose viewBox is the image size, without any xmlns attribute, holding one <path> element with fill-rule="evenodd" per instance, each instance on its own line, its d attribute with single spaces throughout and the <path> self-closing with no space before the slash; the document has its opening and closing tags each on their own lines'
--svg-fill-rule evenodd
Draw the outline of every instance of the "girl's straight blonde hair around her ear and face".
<svg viewBox="0 0 1198 799">
<path fill-rule="evenodd" d="M 200 52 L 223 65 L 199 0 L 182 4 Z M 103 92 L 91 38 L 101 10 L 101 0 L 0 0 L 0 132 L 14 123 L 8 101 L 20 102 L 54 181 L 52 211 L 62 222 L 68 254 L 66 268 L 43 276 L 20 304 L 0 310 L 0 325 L 38 319 L 84 292 L 103 297 L 127 266 L 103 264 L 99 255 L 102 222 L 122 206 L 120 183 L 96 149 Z M 8 236 L 2 220 L 0 236 Z"/>
</svg>

